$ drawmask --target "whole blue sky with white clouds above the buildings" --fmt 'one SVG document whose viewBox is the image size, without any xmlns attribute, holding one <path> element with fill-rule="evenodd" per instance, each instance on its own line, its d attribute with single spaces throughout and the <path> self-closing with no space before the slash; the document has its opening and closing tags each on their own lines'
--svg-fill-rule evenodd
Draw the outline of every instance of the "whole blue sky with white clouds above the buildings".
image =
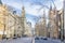
<svg viewBox="0 0 65 43">
<path fill-rule="evenodd" d="M 3 4 L 11 5 L 22 12 L 22 6 L 25 6 L 26 18 L 28 22 L 35 25 L 38 20 L 38 16 L 42 16 L 43 10 L 46 10 L 46 16 L 48 15 L 49 6 L 56 6 L 57 10 L 63 8 L 63 0 L 1 0 Z M 21 15 L 21 14 L 18 14 Z"/>
</svg>

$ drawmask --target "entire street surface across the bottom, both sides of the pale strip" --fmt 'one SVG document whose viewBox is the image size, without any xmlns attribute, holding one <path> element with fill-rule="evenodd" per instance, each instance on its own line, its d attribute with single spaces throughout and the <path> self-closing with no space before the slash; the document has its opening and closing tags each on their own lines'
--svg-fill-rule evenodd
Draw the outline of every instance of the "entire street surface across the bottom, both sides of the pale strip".
<svg viewBox="0 0 65 43">
<path fill-rule="evenodd" d="M 32 43 L 34 38 L 17 38 L 17 39 L 4 39 L 0 40 L 0 43 Z M 61 40 L 35 40 L 34 43 L 62 43 Z M 65 43 L 65 42 L 64 42 Z"/>
</svg>

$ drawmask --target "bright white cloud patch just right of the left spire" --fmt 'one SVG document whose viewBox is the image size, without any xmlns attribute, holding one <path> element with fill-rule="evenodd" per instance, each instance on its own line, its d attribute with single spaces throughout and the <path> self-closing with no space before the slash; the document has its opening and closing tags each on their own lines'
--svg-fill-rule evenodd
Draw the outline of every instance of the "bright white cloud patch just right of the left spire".
<svg viewBox="0 0 65 43">
<path fill-rule="evenodd" d="M 37 5 L 37 6 L 35 6 L 35 5 L 28 5 L 28 6 L 26 6 L 26 13 L 27 14 L 32 14 L 32 15 L 35 15 L 35 16 L 38 16 L 39 14 L 38 14 L 38 8 L 40 8 L 40 5 Z"/>
</svg>

